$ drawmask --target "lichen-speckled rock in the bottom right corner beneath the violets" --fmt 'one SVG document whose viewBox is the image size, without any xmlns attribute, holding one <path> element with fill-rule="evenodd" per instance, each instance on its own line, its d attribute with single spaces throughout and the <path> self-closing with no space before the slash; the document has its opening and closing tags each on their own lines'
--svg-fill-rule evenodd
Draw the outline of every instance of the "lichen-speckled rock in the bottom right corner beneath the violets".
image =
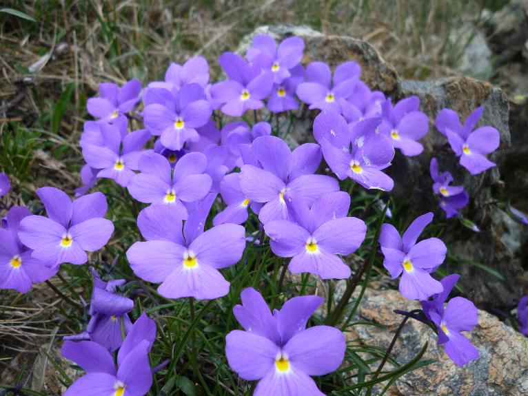
<svg viewBox="0 0 528 396">
<path fill-rule="evenodd" d="M 397 291 L 367 289 L 356 321 L 371 321 L 383 326 L 359 324 L 346 333 L 352 344 L 361 342 L 387 348 L 403 317 L 392 310 L 411 311 L 418 302 L 403 298 Z M 420 322 L 409 320 L 396 342 L 392 357 L 400 364 L 409 362 L 428 343 L 423 359 L 435 359 L 416 371 L 400 377 L 386 395 L 483 396 L 528 394 L 528 342 L 493 315 L 478 311 L 478 326 L 465 333 L 480 353 L 480 358 L 463 367 L 456 366 L 436 344 L 436 334 Z M 385 366 L 388 367 L 388 366 Z M 377 368 L 377 364 L 372 367 Z"/>
</svg>

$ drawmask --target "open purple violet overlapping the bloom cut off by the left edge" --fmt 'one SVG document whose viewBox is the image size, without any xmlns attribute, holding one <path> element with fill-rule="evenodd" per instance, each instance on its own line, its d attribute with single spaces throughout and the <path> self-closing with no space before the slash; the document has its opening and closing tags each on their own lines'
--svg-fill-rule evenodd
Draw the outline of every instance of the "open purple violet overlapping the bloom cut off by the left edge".
<svg viewBox="0 0 528 396">
<path fill-rule="evenodd" d="M 108 209 L 100 192 L 72 202 L 65 192 L 54 187 L 37 189 L 48 217 L 27 216 L 20 222 L 19 238 L 33 249 L 31 256 L 51 268 L 63 262 L 84 264 L 86 251 L 96 251 L 114 232 L 114 225 L 103 218 Z"/>
</svg>

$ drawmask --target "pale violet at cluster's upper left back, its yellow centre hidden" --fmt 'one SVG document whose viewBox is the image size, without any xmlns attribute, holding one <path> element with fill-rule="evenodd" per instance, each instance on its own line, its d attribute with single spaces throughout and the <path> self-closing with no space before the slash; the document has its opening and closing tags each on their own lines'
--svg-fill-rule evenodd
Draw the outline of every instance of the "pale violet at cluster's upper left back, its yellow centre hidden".
<svg viewBox="0 0 528 396">
<path fill-rule="evenodd" d="M 165 88 L 171 92 L 179 90 L 183 85 L 199 84 L 205 89 L 209 82 L 209 65 L 202 56 L 195 56 L 183 65 L 171 63 L 165 72 L 165 81 L 152 81 L 149 88 Z M 163 104 L 163 103 L 162 103 Z"/>
</svg>

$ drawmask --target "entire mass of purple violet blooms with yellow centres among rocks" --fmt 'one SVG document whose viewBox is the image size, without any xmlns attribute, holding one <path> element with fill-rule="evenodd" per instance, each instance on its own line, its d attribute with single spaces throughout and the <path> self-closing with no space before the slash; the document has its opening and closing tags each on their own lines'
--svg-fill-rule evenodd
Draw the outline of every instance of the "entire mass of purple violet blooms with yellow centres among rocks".
<svg viewBox="0 0 528 396">
<path fill-rule="evenodd" d="M 303 50 L 298 37 L 276 45 L 272 37 L 258 35 L 245 58 L 231 52 L 220 56 L 225 81 L 210 83 L 207 61 L 197 56 L 183 65 L 172 63 L 164 81 L 144 88 L 137 80 L 121 88 L 102 83 L 99 97 L 87 104 L 96 120 L 85 122 L 80 140 L 86 165 L 78 198 L 72 201 L 59 189 L 43 187 L 37 195 L 47 217 L 10 209 L 0 229 L 0 288 L 26 292 L 32 283 L 57 273 L 62 263 L 88 262 L 87 251 L 108 242 L 114 225 L 104 218 L 106 198 L 101 192 L 85 195 L 102 178 L 148 204 L 136 219 L 144 240 L 134 242 L 126 257 L 138 278 L 159 284 L 157 292 L 164 298 L 227 295 L 230 282 L 221 270 L 240 262 L 248 240 L 265 244 L 265 236 L 276 256 L 291 258 L 292 273 L 349 278 L 346 256 L 361 247 L 367 225 L 349 216 L 351 196 L 341 188 L 353 181 L 365 189 L 392 190 L 394 180 L 384 170 L 395 149 L 398 155 L 421 154 L 429 120 L 418 110 L 418 97 L 393 103 L 383 92 L 370 90 L 357 63 L 338 65 L 333 73 L 318 61 L 305 68 Z M 321 110 L 313 125 L 316 143 L 293 150 L 277 136 L 282 135 L 278 127 L 258 122 L 256 112 L 252 125 L 247 119 L 226 117 L 224 123 L 222 118 L 242 117 L 247 110 L 282 113 L 301 103 Z M 499 144 L 492 127 L 472 132 L 482 112 L 479 107 L 464 126 L 452 110 L 436 118 L 438 131 L 471 174 L 494 165 L 485 154 Z M 321 171 L 323 158 L 329 169 Z M 469 201 L 464 188 L 450 185 L 448 171 L 439 174 L 436 158 L 431 178 L 447 218 L 459 216 Z M 346 181 L 340 185 L 340 180 Z M 8 189 L 8 179 L 0 174 L 0 194 Z M 211 225 L 212 207 L 221 209 Z M 447 252 L 438 238 L 417 242 L 432 219 L 432 213 L 416 218 L 403 236 L 383 225 L 383 265 L 393 279 L 401 275 L 400 292 L 406 298 L 422 301 L 447 355 L 465 364 L 478 352 L 460 332 L 476 325 L 477 310 L 459 297 L 444 307 L 458 275 L 442 281 L 431 275 Z M 258 231 L 247 236 L 248 225 L 257 225 Z M 144 395 L 152 384 L 148 352 L 156 326 L 144 314 L 132 324 L 134 302 L 121 295 L 125 280 L 103 282 L 95 271 L 92 276 L 90 322 L 63 346 L 63 356 L 87 374 L 65 395 Z M 256 395 L 322 394 L 310 376 L 335 371 L 345 355 L 341 331 L 306 328 L 323 300 L 294 297 L 273 312 L 254 289 L 245 289 L 241 300 L 234 315 L 245 331 L 226 337 L 232 369 L 243 379 L 260 380 Z M 521 313 L 524 308 L 520 318 Z"/>
</svg>

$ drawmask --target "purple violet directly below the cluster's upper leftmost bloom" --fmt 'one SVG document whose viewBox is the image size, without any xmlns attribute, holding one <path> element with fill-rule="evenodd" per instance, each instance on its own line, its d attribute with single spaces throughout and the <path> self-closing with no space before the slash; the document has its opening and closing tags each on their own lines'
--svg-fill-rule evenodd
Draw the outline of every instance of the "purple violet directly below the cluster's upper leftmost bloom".
<svg viewBox="0 0 528 396">
<path fill-rule="evenodd" d="M 139 158 L 152 150 L 141 150 L 150 133 L 145 129 L 130 132 L 123 138 L 114 125 L 101 125 L 105 145 L 86 144 L 83 156 L 86 163 L 99 169 L 98 178 L 111 178 L 122 187 L 127 187 L 138 169 Z"/>
</svg>

